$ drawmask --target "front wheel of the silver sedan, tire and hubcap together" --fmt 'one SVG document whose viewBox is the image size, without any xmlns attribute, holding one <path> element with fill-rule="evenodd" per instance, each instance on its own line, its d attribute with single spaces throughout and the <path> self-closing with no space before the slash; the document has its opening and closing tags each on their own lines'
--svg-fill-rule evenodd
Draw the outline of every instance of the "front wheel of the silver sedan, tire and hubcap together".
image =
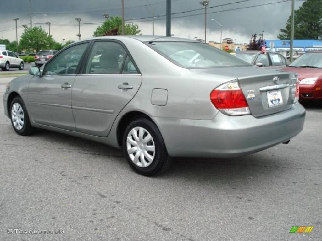
<svg viewBox="0 0 322 241">
<path fill-rule="evenodd" d="M 26 107 L 20 97 L 15 97 L 10 104 L 10 119 L 14 131 L 19 135 L 27 136 L 33 133 Z"/>
</svg>

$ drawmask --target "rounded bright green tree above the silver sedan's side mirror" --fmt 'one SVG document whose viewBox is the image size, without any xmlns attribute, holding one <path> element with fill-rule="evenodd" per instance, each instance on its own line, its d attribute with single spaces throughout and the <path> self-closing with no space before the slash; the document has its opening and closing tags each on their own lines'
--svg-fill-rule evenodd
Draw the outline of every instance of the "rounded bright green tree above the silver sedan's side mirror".
<svg viewBox="0 0 322 241">
<path fill-rule="evenodd" d="M 24 31 L 20 39 L 20 47 L 22 49 L 36 50 L 49 49 L 54 43 L 51 35 L 48 35 L 42 27 L 28 28 Z"/>
</svg>

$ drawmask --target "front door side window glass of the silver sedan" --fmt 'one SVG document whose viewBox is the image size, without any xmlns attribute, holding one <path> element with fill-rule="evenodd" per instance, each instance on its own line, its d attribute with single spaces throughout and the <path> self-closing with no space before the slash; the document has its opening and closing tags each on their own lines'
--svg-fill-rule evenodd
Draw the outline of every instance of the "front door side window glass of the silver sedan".
<svg viewBox="0 0 322 241">
<path fill-rule="evenodd" d="M 43 75 L 73 75 L 79 65 L 88 43 L 81 43 L 62 51 L 45 64 Z"/>
</svg>

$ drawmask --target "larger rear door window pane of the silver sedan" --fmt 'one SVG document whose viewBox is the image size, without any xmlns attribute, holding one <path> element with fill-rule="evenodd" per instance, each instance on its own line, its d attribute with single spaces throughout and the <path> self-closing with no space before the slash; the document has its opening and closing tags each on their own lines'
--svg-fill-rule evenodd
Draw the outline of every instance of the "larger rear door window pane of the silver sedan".
<svg viewBox="0 0 322 241">
<path fill-rule="evenodd" d="M 85 74 L 120 74 L 127 54 L 125 49 L 116 42 L 95 42 Z"/>
</svg>

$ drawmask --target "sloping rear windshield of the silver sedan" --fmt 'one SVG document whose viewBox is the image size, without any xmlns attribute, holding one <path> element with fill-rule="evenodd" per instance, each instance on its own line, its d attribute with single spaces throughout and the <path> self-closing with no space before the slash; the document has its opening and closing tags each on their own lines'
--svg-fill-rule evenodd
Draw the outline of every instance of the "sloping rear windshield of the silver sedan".
<svg viewBox="0 0 322 241">
<path fill-rule="evenodd" d="M 176 65 L 185 68 L 215 68 L 224 66 L 247 66 L 231 54 L 204 43 L 157 41 L 146 43 Z"/>
</svg>

